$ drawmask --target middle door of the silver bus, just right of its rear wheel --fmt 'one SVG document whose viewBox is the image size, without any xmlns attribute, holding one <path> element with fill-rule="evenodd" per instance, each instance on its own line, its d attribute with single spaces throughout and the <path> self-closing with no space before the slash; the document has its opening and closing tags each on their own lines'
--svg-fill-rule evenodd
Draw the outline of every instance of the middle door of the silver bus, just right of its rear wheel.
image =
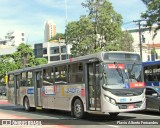
<svg viewBox="0 0 160 128">
<path fill-rule="evenodd" d="M 34 72 L 34 98 L 35 98 L 35 106 L 42 106 L 42 70 Z"/>
</svg>

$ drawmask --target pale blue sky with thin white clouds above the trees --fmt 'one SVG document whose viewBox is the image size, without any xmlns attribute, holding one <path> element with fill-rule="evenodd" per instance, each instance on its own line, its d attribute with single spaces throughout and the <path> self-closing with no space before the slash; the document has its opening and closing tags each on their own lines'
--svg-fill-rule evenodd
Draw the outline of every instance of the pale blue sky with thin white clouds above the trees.
<svg viewBox="0 0 160 128">
<path fill-rule="evenodd" d="M 87 14 L 81 3 L 86 0 L 0 0 L 0 38 L 9 31 L 26 34 L 26 43 L 43 43 L 44 23 L 53 20 L 57 33 L 64 33 L 68 22 L 78 21 Z M 146 10 L 141 0 L 109 0 L 114 10 L 123 17 L 123 29 L 138 27 L 133 20 L 140 19 Z"/>
</svg>

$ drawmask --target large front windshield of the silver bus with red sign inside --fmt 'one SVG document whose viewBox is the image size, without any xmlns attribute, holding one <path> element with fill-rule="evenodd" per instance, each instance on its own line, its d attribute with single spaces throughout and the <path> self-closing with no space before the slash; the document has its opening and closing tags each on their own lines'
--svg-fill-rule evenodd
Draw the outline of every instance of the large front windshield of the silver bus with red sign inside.
<svg viewBox="0 0 160 128">
<path fill-rule="evenodd" d="M 142 82 L 140 64 L 105 64 L 104 87 L 125 88 L 126 83 Z"/>
</svg>

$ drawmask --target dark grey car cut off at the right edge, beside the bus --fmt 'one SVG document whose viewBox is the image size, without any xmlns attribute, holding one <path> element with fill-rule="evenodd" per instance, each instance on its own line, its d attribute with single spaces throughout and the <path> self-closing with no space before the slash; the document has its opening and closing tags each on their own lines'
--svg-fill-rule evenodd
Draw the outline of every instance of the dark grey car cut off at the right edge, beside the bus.
<svg viewBox="0 0 160 128">
<path fill-rule="evenodd" d="M 146 110 L 160 112 L 160 86 L 146 86 Z"/>
</svg>

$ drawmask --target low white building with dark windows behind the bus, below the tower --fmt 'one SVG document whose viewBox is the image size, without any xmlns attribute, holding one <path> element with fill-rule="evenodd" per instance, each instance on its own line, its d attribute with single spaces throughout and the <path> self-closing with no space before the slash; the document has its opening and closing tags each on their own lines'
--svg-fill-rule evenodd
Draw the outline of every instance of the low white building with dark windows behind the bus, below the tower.
<svg viewBox="0 0 160 128">
<path fill-rule="evenodd" d="M 34 45 L 36 58 L 46 58 L 48 63 L 69 58 L 71 45 L 66 45 L 62 40 L 59 42 L 46 42 Z"/>
</svg>

